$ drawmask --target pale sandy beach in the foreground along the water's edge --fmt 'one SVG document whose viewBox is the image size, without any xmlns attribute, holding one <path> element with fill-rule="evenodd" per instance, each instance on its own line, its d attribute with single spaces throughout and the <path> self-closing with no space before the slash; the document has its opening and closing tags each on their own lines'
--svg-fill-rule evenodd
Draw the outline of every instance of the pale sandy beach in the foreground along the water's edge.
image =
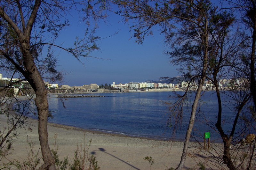
<svg viewBox="0 0 256 170">
<path fill-rule="evenodd" d="M 30 119 L 27 132 L 18 129 L 19 137 L 13 144 L 10 160 L 24 160 L 27 158 L 29 145 L 27 140 L 35 144 L 34 150 L 40 149 L 38 139 L 37 120 Z M 1 121 L 1 129 L 6 127 L 6 123 Z M 178 166 L 183 150 L 183 142 L 157 141 L 145 138 L 127 137 L 116 134 L 107 134 L 97 131 L 89 131 L 71 126 L 48 123 L 49 145 L 54 148 L 55 134 L 57 134 L 57 145 L 59 146 L 60 159 L 68 155 L 69 161 L 73 160 L 74 151 L 77 145 L 84 142 L 88 145 L 92 139 L 89 153 L 95 154 L 100 169 L 141 169 L 148 170 L 149 162 L 145 161 L 145 156 L 151 156 L 154 164 L 151 169 L 169 169 Z M 194 151 L 196 144 L 190 143 L 189 150 Z M 41 155 L 40 155 L 41 157 Z M 42 160 L 42 159 L 41 159 Z M 8 160 L 2 159 L 1 165 Z M 197 167 L 196 162 L 187 156 L 184 169 Z"/>
</svg>

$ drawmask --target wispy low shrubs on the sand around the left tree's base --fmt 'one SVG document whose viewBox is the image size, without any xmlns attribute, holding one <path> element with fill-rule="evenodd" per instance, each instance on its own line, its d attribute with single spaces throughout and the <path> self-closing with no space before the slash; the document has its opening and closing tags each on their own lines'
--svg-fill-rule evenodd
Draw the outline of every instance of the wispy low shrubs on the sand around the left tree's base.
<svg viewBox="0 0 256 170">
<path fill-rule="evenodd" d="M 89 147 L 92 143 L 90 139 L 89 146 L 84 144 L 77 144 L 73 161 L 69 163 L 68 155 L 64 157 L 64 160 L 60 160 L 60 154 L 58 154 L 59 146 L 57 146 L 57 134 L 54 135 L 55 143 L 53 144 L 52 155 L 55 161 L 56 170 L 99 170 L 100 166 L 96 160 L 95 155 L 88 153 Z M 29 149 L 27 149 L 28 157 L 25 160 L 9 160 L 10 162 L 3 166 L 4 169 L 10 169 L 15 166 L 17 170 L 37 170 L 40 164 L 40 148 L 35 150 L 35 143 L 29 142 Z M 1 169 L 1 168 L 0 168 Z"/>
</svg>

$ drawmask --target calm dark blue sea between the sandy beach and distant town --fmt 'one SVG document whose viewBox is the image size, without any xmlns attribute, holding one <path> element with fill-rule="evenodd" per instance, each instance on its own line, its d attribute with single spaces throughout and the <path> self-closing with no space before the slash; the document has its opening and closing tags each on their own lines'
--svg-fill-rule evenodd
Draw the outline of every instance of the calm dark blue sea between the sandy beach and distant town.
<svg viewBox="0 0 256 170">
<path fill-rule="evenodd" d="M 170 97 L 184 92 L 126 92 L 90 93 L 66 95 L 103 95 L 105 97 L 58 98 L 50 95 L 49 109 L 53 118 L 49 122 L 70 125 L 83 129 L 97 130 L 134 137 L 149 137 L 160 140 L 184 140 L 191 115 L 191 100 L 186 99 L 183 115 L 170 117 L 167 103 L 177 98 Z M 193 96 L 193 95 L 192 95 Z M 226 99 L 227 101 L 227 99 Z M 223 102 L 225 105 L 225 102 Z M 213 129 L 217 122 L 217 98 L 212 92 L 205 92 L 200 111 L 191 134 L 191 141 L 203 141 L 204 132 L 210 132 L 212 142 L 220 142 L 220 135 Z M 223 105 L 223 127 L 228 132 L 234 120 L 233 107 Z M 176 120 L 179 122 L 175 125 Z M 209 126 L 210 125 L 210 126 Z M 239 124 L 238 126 L 243 126 Z M 238 128 L 239 129 L 239 128 Z"/>
</svg>

